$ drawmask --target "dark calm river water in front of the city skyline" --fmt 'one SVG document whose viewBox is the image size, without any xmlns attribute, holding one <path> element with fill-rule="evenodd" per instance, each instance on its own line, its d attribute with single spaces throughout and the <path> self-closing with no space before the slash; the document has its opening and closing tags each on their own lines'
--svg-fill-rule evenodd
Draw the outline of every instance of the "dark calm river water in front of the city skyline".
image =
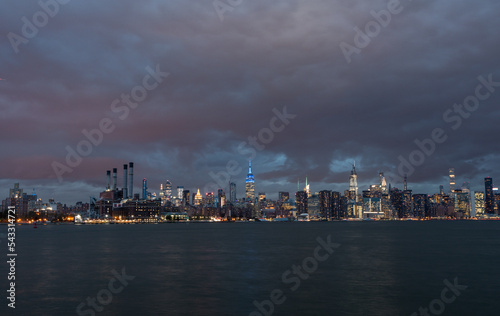
<svg viewBox="0 0 500 316">
<path fill-rule="evenodd" d="M 7 227 L 0 229 L 6 233 Z M 3 299 L 0 315 L 78 315 L 77 306 L 98 293 L 101 302 L 109 303 L 100 312 L 85 305 L 81 315 L 411 315 L 440 299 L 443 282 L 455 278 L 468 288 L 451 303 L 434 301 L 437 312 L 444 307 L 441 315 L 498 315 L 500 307 L 500 222 L 16 229 L 16 309 L 8 309 Z M 328 257 L 321 249 L 318 255 L 327 257 L 322 262 L 312 259 L 317 238 L 329 235 L 340 246 Z M 1 241 L 6 258 L 6 239 Z M 298 284 L 292 267 L 304 262 L 311 273 Z M 135 278 L 124 281 L 126 286 L 112 283 L 113 289 L 122 288 L 112 294 L 112 271 L 121 274 L 122 269 Z M 7 273 L 4 262 L 3 293 Z M 270 313 L 273 290 L 281 293 L 277 302 L 285 301 L 273 304 Z M 264 302 L 266 310 L 258 312 L 254 301 Z"/>
</svg>

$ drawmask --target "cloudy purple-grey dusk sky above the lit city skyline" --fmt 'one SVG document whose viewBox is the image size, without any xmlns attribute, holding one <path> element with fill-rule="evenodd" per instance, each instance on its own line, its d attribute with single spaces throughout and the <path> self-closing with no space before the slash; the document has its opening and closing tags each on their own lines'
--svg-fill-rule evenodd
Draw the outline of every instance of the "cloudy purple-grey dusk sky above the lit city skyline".
<svg viewBox="0 0 500 316">
<path fill-rule="evenodd" d="M 500 2 L 2 1 L 0 198 L 500 178 Z M 69 158 L 68 158 L 69 157 Z"/>
</svg>

